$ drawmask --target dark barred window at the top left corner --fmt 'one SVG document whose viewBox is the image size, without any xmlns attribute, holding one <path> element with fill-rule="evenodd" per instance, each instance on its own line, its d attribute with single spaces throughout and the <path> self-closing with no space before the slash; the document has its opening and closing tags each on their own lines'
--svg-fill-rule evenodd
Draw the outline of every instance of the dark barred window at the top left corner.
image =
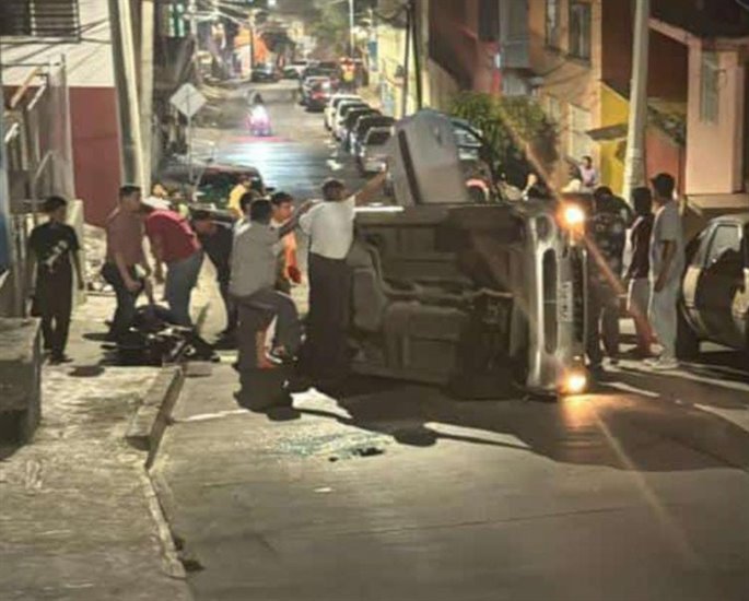
<svg viewBox="0 0 749 601">
<path fill-rule="evenodd" d="M 78 0 L 0 0 L 0 36 L 79 39 Z"/>
</svg>

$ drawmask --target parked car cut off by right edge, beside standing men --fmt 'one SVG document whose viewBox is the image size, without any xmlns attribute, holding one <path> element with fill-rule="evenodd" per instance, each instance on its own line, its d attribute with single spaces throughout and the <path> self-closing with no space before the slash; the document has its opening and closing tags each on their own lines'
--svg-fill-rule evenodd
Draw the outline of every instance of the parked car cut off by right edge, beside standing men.
<svg viewBox="0 0 749 601">
<path fill-rule="evenodd" d="M 749 213 L 712 220 L 688 248 L 677 354 L 702 341 L 749 352 Z"/>
</svg>

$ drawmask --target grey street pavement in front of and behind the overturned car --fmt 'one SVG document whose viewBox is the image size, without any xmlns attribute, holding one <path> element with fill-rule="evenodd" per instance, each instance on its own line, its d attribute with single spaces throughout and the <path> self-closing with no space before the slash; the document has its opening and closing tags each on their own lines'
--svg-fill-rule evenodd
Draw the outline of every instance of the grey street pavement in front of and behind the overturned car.
<svg viewBox="0 0 749 601">
<path fill-rule="evenodd" d="M 319 115 L 267 97 L 278 139 L 224 132 L 219 156 L 303 198 L 356 181 Z M 623 361 L 558 403 L 352 380 L 262 414 L 222 364 L 188 379 L 154 475 L 198 601 L 740 601 L 742 366 L 716 347 L 670 374 Z"/>
</svg>

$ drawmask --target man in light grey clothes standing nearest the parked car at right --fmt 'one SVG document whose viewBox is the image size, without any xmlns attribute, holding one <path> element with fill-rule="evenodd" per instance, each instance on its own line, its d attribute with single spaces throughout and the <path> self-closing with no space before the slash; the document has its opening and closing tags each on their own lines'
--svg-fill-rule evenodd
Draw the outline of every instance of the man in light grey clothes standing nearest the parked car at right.
<svg viewBox="0 0 749 601">
<path fill-rule="evenodd" d="M 675 181 L 668 174 L 658 174 L 651 180 L 656 205 L 651 234 L 651 304 L 648 317 L 658 341 L 662 355 L 648 361 L 653 369 L 678 367 L 676 360 L 677 304 L 684 270 L 684 238 L 679 205 L 674 199 Z"/>
</svg>

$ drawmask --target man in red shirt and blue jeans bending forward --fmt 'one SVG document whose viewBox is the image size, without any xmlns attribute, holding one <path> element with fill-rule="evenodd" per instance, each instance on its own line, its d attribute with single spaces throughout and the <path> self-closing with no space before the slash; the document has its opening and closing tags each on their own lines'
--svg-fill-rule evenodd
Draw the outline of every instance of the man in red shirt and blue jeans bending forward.
<svg viewBox="0 0 749 601">
<path fill-rule="evenodd" d="M 144 202 L 142 215 L 145 234 L 151 241 L 156 281 L 165 280 L 164 295 L 175 322 L 191 327 L 190 296 L 198 283 L 203 262 L 203 250 L 198 237 L 185 217 L 168 209 L 156 207 L 155 202 Z"/>
</svg>

